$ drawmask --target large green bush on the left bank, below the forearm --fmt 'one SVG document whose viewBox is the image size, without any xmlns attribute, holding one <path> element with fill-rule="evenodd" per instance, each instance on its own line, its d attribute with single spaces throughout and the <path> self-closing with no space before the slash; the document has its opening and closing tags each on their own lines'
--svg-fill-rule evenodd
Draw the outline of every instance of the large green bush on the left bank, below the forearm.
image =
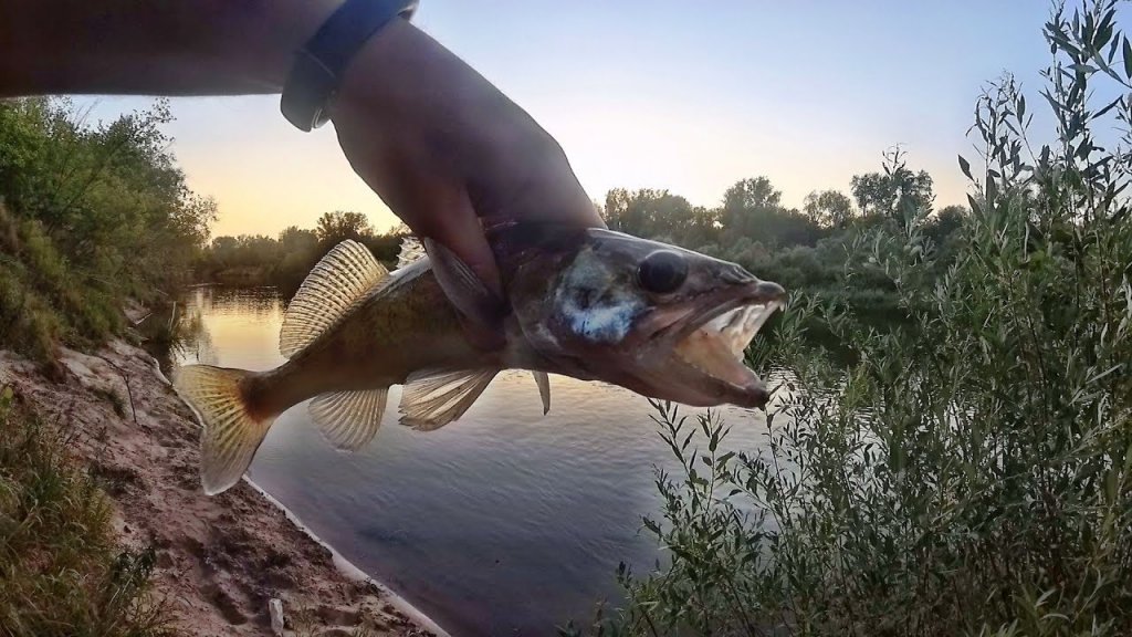
<svg viewBox="0 0 1132 637">
<path fill-rule="evenodd" d="M 215 206 L 173 164 L 169 120 L 162 102 L 88 126 L 66 101 L 0 101 L 0 348 L 50 363 L 188 279 Z"/>
</svg>

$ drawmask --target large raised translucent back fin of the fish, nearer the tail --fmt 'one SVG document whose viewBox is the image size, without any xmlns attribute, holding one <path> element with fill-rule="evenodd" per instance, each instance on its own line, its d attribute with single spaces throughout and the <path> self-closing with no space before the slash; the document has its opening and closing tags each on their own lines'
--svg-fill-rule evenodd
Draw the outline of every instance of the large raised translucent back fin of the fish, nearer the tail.
<svg viewBox="0 0 1132 637">
<path fill-rule="evenodd" d="M 338 322 L 388 271 L 353 240 L 334 246 L 307 274 L 283 315 L 280 353 L 288 358 Z"/>
</svg>

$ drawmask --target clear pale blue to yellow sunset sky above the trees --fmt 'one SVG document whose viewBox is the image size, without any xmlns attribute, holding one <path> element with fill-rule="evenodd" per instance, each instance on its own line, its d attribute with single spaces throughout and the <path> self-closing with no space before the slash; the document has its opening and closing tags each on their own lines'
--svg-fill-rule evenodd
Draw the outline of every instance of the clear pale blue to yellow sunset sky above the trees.
<svg viewBox="0 0 1132 637">
<path fill-rule="evenodd" d="M 946 205 L 966 201 L 955 155 L 975 155 L 980 86 L 1010 70 L 1039 103 L 1048 15 L 1044 0 L 422 0 L 415 24 L 549 130 L 592 198 L 648 187 L 714 205 L 765 175 L 800 206 L 848 194 L 900 143 Z M 98 99 L 94 114 L 147 103 Z M 331 210 L 396 222 L 329 125 L 300 133 L 277 96 L 172 105 L 189 185 L 220 206 L 214 236 L 314 227 Z"/>
</svg>

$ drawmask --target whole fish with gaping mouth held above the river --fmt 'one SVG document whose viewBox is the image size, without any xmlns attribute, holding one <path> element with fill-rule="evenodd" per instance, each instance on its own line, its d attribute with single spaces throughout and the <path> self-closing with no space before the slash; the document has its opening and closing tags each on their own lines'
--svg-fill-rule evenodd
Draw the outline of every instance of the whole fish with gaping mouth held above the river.
<svg viewBox="0 0 1132 637">
<path fill-rule="evenodd" d="M 392 272 L 345 240 L 286 307 L 284 364 L 178 368 L 173 387 L 203 427 L 204 491 L 234 485 L 275 418 L 307 400 L 331 444 L 361 449 L 393 385 L 403 385 L 400 423 L 421 431 L 458 419 L 504 370 L 533 374 L 543 414 L 549 374 L 695 407 L 765 406 L 770 391 L 744 353 L 784 303 L 781 286 L 604 228 L 512 222 L 486 232 L 501 296 L 428 239 L 406 240 Z"/>
</svg>

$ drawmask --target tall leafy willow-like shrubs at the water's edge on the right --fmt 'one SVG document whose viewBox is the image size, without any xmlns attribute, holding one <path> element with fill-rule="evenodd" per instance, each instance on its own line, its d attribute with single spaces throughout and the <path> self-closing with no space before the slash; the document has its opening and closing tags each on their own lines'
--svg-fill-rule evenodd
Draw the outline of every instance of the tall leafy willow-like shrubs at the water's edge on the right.
<svg viewBox="0 0 1132 637">
<path fill-rule="evenodd" d="M 1038 103 L 979 100 L 971 218 L 938 267 L 923 210 L 857 241 L 909 324 L 816 298 L 777 326 L 769 443 L 660 406 L 683 472 L 645 520 L 668 560 L 619 574 L 617 612 L 564 634 L 1132 635 L 1132 45 L 1114 0 L 1055 8 Z M 1107 99 L 1103 99 L 1106 96 Z M 983 163 L 980 169 L 972 163 Z M 813 314 L 857 353 L 800 339 Z"/>
</svg>

